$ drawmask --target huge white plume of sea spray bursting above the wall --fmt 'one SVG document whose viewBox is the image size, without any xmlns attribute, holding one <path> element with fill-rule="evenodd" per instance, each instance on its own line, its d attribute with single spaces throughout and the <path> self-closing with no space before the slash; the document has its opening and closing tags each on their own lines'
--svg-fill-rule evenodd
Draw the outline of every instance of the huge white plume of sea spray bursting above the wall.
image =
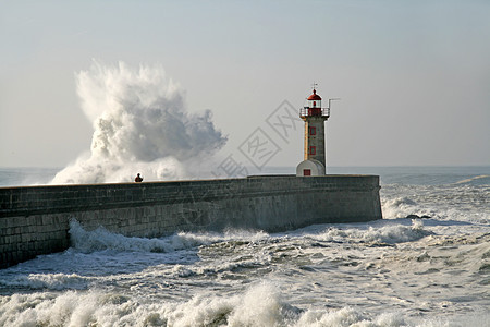
<svg viewBox="0 0 490 327">
<path fill-rule="evenodd" d="M 82 109 L 93 122 L 90 152 L 51 183 L 128 182 L 192 178 L 197 158 L 226 142 L 209 110 L 192 114 L 180 87 L 160 65 L 134 69 L 97 61 L 76 74 Z"/>
</svg>

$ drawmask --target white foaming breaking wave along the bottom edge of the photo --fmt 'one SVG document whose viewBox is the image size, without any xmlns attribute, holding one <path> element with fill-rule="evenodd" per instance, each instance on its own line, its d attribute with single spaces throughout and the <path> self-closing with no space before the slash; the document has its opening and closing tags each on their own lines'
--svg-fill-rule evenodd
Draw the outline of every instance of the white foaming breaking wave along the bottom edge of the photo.
<svg viewBox="0 0 490 327">
<path fill-rule="evenodd" d="M 348 306 L 301 310 L 289 304 L 281 287 L 270 281 L 238 294 L 199 293 L 184 302 L 151 303 L 145 298 L 98 291 L 14 294 L 0 303 L 0 313 L 2 326 L 463 326 L 441 318 L 408 318 L 396 312 L 365 314 Z M 473 317 L 475 322 L 486 318 Z"/>
</svg>

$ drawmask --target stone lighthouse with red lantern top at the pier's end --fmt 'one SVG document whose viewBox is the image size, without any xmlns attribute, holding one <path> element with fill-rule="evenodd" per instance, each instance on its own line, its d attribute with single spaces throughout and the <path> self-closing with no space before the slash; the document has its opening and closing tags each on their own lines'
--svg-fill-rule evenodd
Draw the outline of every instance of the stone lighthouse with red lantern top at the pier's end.
<svg viewBox="0 0 490 327">
<path fill-rule="evenodd" d="M 323 175 L 326 173 L 324 121 L 330 117 L 330 108 L 321 108 L 321 97 L 314 87 L 306 107 L 299 109 L 305 122 L 305 160 L 296 167 L 296 175 Z"/>
</svg>

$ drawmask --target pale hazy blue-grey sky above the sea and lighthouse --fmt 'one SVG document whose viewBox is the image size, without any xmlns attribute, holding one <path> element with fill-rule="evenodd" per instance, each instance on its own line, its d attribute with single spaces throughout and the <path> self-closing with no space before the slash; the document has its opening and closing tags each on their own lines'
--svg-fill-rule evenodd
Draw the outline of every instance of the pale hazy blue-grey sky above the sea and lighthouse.
<svg viewBox="0 0 490 327">
<path fill-rule="evenodd" d="M 260 128 L 303 160 L 299 109 L 332 102 L 329 166 L 490 165 L 490 1 L 0 1 L 0 167 L 64 167 L 90 147 L 75 74 L 93 60 L 160 64 L 191 112 L 228 135 Z M 327 105 L 327 101 L 323 101 Z"/>
</svg>

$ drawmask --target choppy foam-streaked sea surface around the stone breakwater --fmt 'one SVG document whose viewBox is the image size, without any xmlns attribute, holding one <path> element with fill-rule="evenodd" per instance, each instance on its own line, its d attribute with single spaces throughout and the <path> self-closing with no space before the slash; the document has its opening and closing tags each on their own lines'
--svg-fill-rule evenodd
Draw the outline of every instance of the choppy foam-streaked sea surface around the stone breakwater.
<svg viewBox="0 0 490 327">
<path fill-rule="evenodd" d="M 160 239 L 73 221 L 69 250 L 0 270 L 0 326 L 490 326 L 490 167 L 329 172 L 379 174 L 384 219 Z"/>
</svg>

